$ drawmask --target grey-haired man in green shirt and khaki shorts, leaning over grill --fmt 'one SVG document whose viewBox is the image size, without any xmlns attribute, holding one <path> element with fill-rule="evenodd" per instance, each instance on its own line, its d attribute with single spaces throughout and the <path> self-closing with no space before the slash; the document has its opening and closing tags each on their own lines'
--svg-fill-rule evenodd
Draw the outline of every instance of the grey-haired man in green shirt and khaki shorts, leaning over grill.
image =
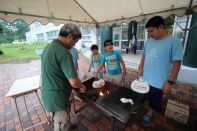
<svg viewBox="0 0 197 131">
<path fill-rule="evenodd" d="M 69 52 L 80 38 L 81 32 L 76 25 L 65 24 L 58 39 L 45 48 L 41 58 L 41 97 L 45 110 L 52 114 L 55 131 L 71 130 L 68 110 L 72 88 L 86 90 Z"/>
</svg>

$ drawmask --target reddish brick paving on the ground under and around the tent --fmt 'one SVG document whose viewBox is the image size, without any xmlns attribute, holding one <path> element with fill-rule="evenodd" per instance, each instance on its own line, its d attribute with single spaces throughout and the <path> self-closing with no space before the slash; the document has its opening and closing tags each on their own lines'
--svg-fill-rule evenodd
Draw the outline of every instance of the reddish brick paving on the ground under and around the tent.
<svg viewBox="0 0 197 131">
<path fill-rule="evenodd" d="M 132 55 L 131 55 L 132 56 Z M 80 56 L 79 70 L 83 75 L 88 68 L 89 61 L 86 57 Z M 16 115 L 16 108 L 13 101 L 10 98 L 5 98 L 5 94 L 8 92 L 12 83 L 16 79 L 40 74 L 40 60 L 22 61 L 18 63 L 0 64 L 0 131 L 20 131 L 19 119 Z M 128 76 L 126 76 L 125 86 L 129 87 L 131 81 L 136 77 L 136 72 L 128 68 Z M 35 94 L 25 96 L 27 99 L 27 107 L 29 114 L 24 108 L 24 101 L 22 97 L 17 99 L 19 103 L 19 110 L 22 116 L 22 121 L 25 126 L 36 124 L 40 121 L 44 121 L 43 110 L 40 107 L 33 107 L 38 103 L 35 99 Z M 129 125 L 125 131 L 194 131 L 197 130 L 197 86 L 178 83 L 175 88 L 172 89 L 170 96 L 173 100 L 177 100 L 182 103 L 186 103 L 190 106 L 190 117 L 187 125 L 180 124 L 170 118 L 165 117 L 164 111 L 166 107 L 167 98 L 163 101 L 163 112 L 158 114 L 156 119 L 151 123 L 150 127 L 144 128 L 140 125 L 141 118 L 147 106 L 141 105 L 140 112 L 133 116 Z M 79 108 L 82 104 L 76 103 Z M 178 114 L 177 114 L 178 115 Z M 96 112 L 90 106 L 86 107 L 81 113 L 74 114 L 71 112 L 72 122 L 78 122 L 78 128 L 74 131 L 108 131 L 110 121 L 107 117 Z M 120 128 L 115 128 L 115 131 L 122 130 L 122 123 L 116 123 L 120 125 Z M 47 123 L 39 125 L 30 131 L 51 131 L 52 125 Z"/>
</svg>

